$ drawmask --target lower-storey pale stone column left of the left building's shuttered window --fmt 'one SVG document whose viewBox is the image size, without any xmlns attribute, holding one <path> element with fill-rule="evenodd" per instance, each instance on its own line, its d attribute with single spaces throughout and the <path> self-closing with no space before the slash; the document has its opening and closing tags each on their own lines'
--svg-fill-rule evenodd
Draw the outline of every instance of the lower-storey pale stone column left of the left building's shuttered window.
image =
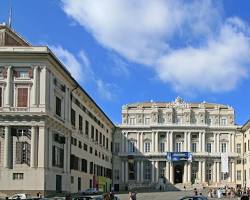
<svg viewBox="0 0 250 200">
<path fill-rule="evenodd" d="M 4 131 L 4 167 L 5 168 L 10 168 L 10 156 L 11 156 L 11 131 L 10 131 L 10 127 L 6 126 L 5 127 L 5 131 Z"/>
</svg>

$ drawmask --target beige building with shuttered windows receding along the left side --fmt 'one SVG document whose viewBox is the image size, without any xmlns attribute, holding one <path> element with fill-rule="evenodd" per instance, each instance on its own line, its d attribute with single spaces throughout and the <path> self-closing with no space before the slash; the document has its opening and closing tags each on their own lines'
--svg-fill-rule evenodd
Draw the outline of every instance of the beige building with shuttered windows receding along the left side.
<svg viewBox="0 0 250 200">
<path fill-rule="evenodd" d="M 0 196 L 110 190 L 113 131 L 48 47 L 0 25 Z"/>
</svg>

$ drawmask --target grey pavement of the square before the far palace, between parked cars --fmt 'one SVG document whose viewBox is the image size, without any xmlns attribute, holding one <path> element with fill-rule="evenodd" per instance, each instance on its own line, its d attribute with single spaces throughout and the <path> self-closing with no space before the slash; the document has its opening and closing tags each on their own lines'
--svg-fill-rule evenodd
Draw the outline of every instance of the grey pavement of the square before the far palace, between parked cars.
<svg viewBox="0 0 250 200">
<path fill-rule="evenodd" d="M 151 193 L 138 193 L 137 194 L 137 200 L 178 200 L 183 196 L 186 195 L 193 195 L 192 191 L 175 191 L 175 192 L 151 192 Z M 128 200 L 128 194 L 118 194 L 119 198 L 121 200 Z M 217 199 L 217 198 L 212 198 Z M 222 198 L 225 199 L 231 199 L 232 198 Z M 236 200 L 237 198 L 235 198 Z"/>
</svg>

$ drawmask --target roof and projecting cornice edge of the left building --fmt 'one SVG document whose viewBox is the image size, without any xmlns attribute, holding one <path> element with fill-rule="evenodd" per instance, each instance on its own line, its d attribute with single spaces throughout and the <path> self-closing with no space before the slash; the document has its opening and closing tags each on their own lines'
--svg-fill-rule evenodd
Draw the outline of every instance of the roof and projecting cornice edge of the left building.
<svg viewBox="0 0 250 200">
<path fill-rule="evenodd" d="M 13 43 L 13 45 L 1 45 L 1 32 L 4 34 L 10 34 L 13 37 L 14 41 L 17 43 Z M 2 40 L 3 41 L 3 40 Z M 4 44 L 4 43 L 3 43 Z M 16 45 L 15 45 L 16 44 Z M 105 114 L 105 112 L 101 109 L 100 106 L 94 101 L 94 99 L 83 89 L 83 87 L 74 79 L 71 73 L 67 70 L 64 64 L 55 56 L 55 54 L 47 47 L 47 46 L 32 46 L 26 40 L 24 40 L 19 34 L 14 32 L 13 29 L 10 29 L 6 25 L 0 24 L 0 52 L 6 53 L 29 53 L 29 54 L 49 54 L 56 63 L 63 69 L 63 71 L 69 76 L 69 78 L 74 82 L 75 88 L 79 88 L 94 105 L 101 111 L 101 113 L 108 119 L 108 121 L 113 125 L 114 123 L 109 119 L 109 117 Z"/>
</svg>

